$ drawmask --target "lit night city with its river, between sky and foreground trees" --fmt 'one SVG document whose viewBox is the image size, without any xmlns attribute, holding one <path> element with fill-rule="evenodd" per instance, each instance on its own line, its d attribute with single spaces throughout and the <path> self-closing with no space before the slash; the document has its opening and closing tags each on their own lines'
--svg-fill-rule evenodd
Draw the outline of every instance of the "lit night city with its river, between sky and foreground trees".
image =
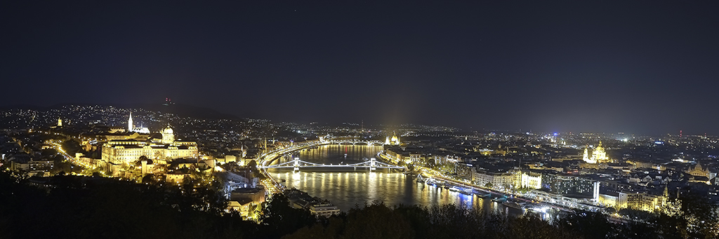
<svg viewBox="0 0 719 239">
<path fill-rule="evenodd" d="M 1 204 L 4 211 L 17 205 L 58 210 L 52 203 L 56 194 L 85 195 L 62 193 L 78 190 L 67 184 L 75 181 L 87 182 L 83 184 L 87 187 L 81 188 L 87 193 L 104 194 L 95 186 L 109 187 L 109 197 L 127 205 L 149 202 L 149 207 L 169 210 L 175 208 L 173 201 L 186 199 L 190 202 L 186 207 L 168 212 L 194 211 L 214 215 L 218 221 L 239 216 L 239 220 L 260 222 L 247 227 L 219 226 L 224 230 L 242 228 L 239 232 L 251 233 L 249 238 L 301 233 L 305 225 L 287 227 L 271 219 L 273 215 L 296 215 L 283 208 L 303 213 L 306 217 L 299 220 L 306 223 L 316 222 L 316 217 L 345 222 L 342 218 L 352 217 L 362 202 L 372 205 L 361 210 L 372 210 L 378 203 L 395 211 L 403 211 L 398 208 L 405 205 L 427 208 L 428 212 L 436 207 L 458 208 L 462 215 L 490 210 L 508 220 L 540 223 L 526 231 L 563 231 L 579 238 L 605 238 L 603 235 L 609 233 L 624 237 L 637 231 L 649 238 L 718 233 L 719 136 L 480 133 L 441 126 L 388 128 L 356 123 L 305 125 L 180 116 L 116 106 L 16 108 L 0 111 L 0 116 L 0 177 L 6 178 L 0 181 L 6 184 L 4 188 L 14 190 L 12 195 L 18 197 L 33 197 L 27 193 L 32 190 L 22 192 L 19 188 L 40 187 L 49 192 L 41 194 L 39 203 L 12 202 L 4 197 L 4 202 L 11 200 Z M 137 200 L 122 197 L 123 191 L 114 192 L 128 186 L 142 190 L 142 194 L 160 192 L 162 197 Z M 175 196 L 168 197 L 168 193 Z M 126 209 L 116 207 L 116 200 L 70 201 L 78 202 L 71 208 L 86 205 L 82 207 L 86 212 L 79 215 L 106 207 Z M 65 205 L 62 208 L 68 210 Z M 35 215 L 26 210 L 17 212 L 14 215 Z M 126 221 L 127 217 L 117 217 L 119 213 L 100 217 Z M 587 217 L 594 219 L 586 222 Z M 11 228 L 35 225 L 28 222 L 14 220 L 17 226 Z M 644 224 L 648 222 L 662 225 L 658 227 L 662 229 L 647 230 Z M 592 233 L 573 228 L 597 223 L 606 227 Z M 86 223 L 73 225 L 79 226 L 65 230 L 63 235 L 97 228 Z M 253 225 L 258 228 L 253 229 Z M 482 231 L 477 225 L 482 223 L 467 226 L 475 232 L 459 232 L 487 235 L 494 231 Z M 428 227 L 412 225 L 410 231 L 421 228 Z M 15 231 L 19 230 L 11 232 Z M 47 233 L 23 231 L 24 235 Z"/>
</svg>

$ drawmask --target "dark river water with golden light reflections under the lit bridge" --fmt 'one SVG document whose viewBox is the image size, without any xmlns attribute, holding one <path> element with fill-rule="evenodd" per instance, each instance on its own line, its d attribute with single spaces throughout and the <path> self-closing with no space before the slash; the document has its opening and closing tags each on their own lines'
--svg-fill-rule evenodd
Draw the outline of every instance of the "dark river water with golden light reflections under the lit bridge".
<svg viewBox="0 0 719 239">
<path fill-rule="evenodd" d="M 275 160 L 274 164 L 298 157 L 302 161 L 319 164 L 353 164 L 372 157 L 382 146 L 340 146 L 325 145 L 318 149 L 297 151 L 291 156 Z M 417 183 L 413 177 L 401 172 L 389 172 L 388 169 L 270 169 L 275 179 L 283 182 L 287 188 L 296 188 L 308 192 L 313 197 L 330 200 L 340 210 L 347 211 L 355 205 L 360 207 L 375 200 L 386 205 L 465 205 L 478 210 L 510 212 L 515 209 L 505 207 L 489 199 L 476 195 L 463 195 L 449 189 Z M 508 211 L 509 210 L 509 211 Z"/>
</svg>

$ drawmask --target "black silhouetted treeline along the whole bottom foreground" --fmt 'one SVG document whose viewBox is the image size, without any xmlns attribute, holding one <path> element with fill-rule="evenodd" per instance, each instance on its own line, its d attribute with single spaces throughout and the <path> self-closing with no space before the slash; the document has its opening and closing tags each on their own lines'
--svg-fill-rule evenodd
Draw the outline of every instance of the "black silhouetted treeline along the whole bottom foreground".
<svg viewBox="0 0 719 239">
<path fill-rule="evenodd" d="M 710 207 L 695 210 L 704 215 L 685 210 L 682 217 L 650 215 L 625 224 L 592 212 L 550 224 L 531 214 L 381 202 L 316 218 L 290 207 L 283 195 L 270 199 L 260 222 L 253 222 L 224 212 L 225 202 L 213 191 L 191 185 L 70 176 L 53 177 L 52 185 L 37 187 L 0 173 L 0 238 L 713 238 L 716 230 L 690 224 L 697 216 L 715 216 Z"/>
</svg>

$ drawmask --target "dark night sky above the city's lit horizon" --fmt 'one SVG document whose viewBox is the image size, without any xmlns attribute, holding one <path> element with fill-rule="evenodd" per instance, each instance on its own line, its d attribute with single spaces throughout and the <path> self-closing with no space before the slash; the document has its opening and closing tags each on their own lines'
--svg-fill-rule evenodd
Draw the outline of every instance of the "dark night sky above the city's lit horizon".
<svg viewBox="0 0 719 239">
<path fill-rule="evenodd" d="M 308 2 L 4 2 L 0 104 L 719 134 L 717 1 Z"/>
</svg>

